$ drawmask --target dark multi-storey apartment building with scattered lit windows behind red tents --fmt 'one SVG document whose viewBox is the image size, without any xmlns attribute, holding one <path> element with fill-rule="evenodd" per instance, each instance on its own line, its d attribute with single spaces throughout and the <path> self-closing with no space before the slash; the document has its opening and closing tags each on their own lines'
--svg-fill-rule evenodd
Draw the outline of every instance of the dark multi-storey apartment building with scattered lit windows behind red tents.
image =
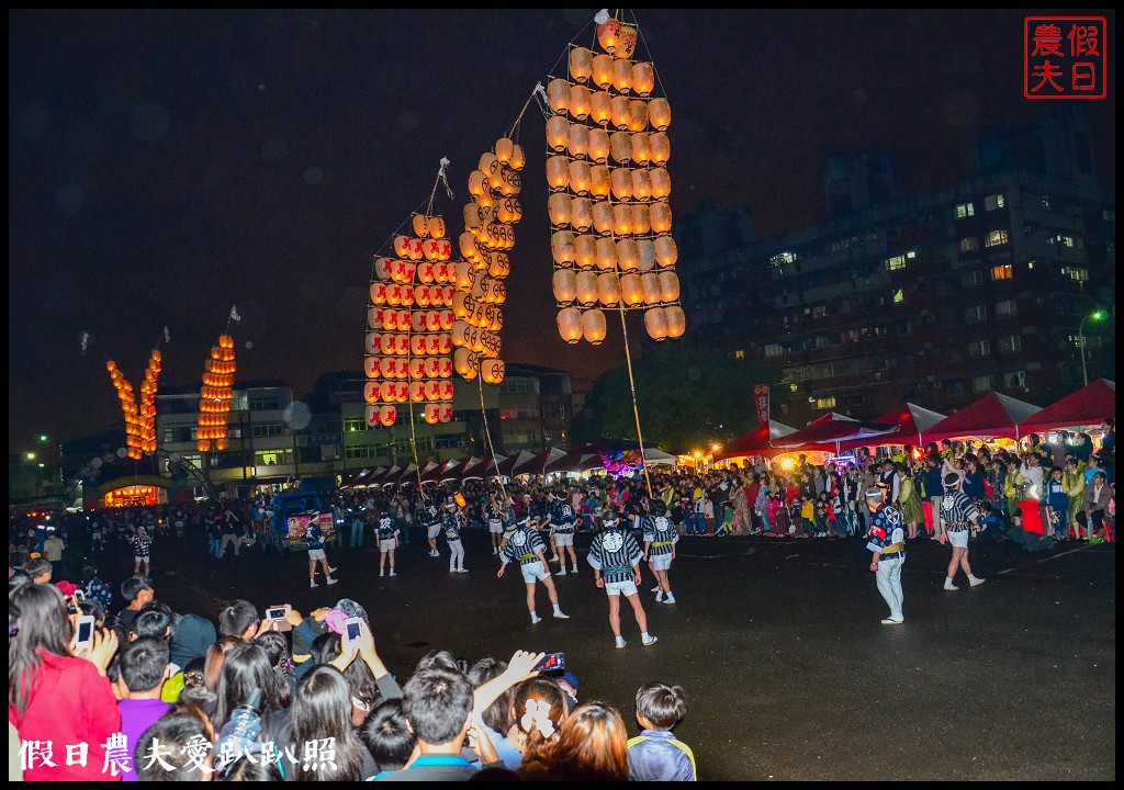
<svg viewBox="0 0 1124 790">
<path fill-rule="evenodd" d="M 679 223 L 699 251 L 681 266 L 688 327 L 779 367 L 774 418 L 948 412 L 991 391 L 1046 405 L 1082 385 L 1082 339 L 1089 380 L 1115 378 L 1115 198 L 1079 113 L 992 130 L 949 189 L 900 197 L 887 167 L 833 157 L 828 219 L 782 236 L 711 208 Z M 1082 327 L 1096 309 L 1106 326 Z"/>
</svg>

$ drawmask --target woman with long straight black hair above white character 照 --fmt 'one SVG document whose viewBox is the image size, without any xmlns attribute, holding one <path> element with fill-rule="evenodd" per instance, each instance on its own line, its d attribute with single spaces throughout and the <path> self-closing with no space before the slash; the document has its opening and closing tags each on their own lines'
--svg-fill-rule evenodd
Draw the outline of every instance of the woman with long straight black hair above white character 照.
<svg viewBox="0 0 1124 790">
<path fill-rule="evenodd" d="M 352 725 L 352 693 L 335 666 L 320 665 L 305 675 L 292 696 L 284 742 L 302 753 L 305 744 L 332 743 L 332 762 L 301 760 L 292 766 L 297 781 L 355 782 L 366 751 Z"/>
</svg>

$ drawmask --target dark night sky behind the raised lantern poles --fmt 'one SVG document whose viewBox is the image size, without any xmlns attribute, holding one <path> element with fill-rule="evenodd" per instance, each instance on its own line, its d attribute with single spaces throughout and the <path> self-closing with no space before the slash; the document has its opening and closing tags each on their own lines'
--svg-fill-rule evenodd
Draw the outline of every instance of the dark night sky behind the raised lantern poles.
<svg viewBox="0 0 1124 790">
<path fill-rule="evenodd" d="M 301 397 L 360 370 L 372 256 L 442 157 L 455 239 L 469 173 L 566 45 L 593 45 L 596 10 L 9 11 L 10 452 L 119 420 L 107 355 L 136 388 L 165 326 L 160 383 L 198 383 L 232 306 L 239 379 Z M 762 236 L 822 221 L 841 149 L 889 153 L 907 194 L 955 182 L 979 128 L 1041 103 L 1023 99 L 1027 13 L 626 11 L 672 108 L 673 211 L 745 205 Z M 1108 99 L 1081 103 L 1115 190 L 1115 15 L 1064 13 L 1108 19 Z M 513 135 L 502 357 L 581 385 L 623 344 L 611 324 L 600 347 L 558 336 L 543 126 L 532 101 Z"/>
</svg>

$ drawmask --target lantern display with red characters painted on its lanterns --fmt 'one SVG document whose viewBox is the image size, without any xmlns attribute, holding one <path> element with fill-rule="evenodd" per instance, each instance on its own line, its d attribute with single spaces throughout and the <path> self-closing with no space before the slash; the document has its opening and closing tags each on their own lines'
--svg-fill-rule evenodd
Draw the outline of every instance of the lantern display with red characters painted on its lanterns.
<svg viewBox="0 0 1124 790">
<path fill-rule="evenodd" d="M 410 229 L 413 235 L 395 237 L 392 256 L 374 258 L 363 361 L 370 427 L 395 425 L 404 403 L 420 409 L 426 401 L 446 400 L 446 391 L 452 398 L 451 387 L 434 384 L 453 372 L 447 357 L 459 263 L 452 261 L 443 217 L 416 214 Z"/>
</svg>

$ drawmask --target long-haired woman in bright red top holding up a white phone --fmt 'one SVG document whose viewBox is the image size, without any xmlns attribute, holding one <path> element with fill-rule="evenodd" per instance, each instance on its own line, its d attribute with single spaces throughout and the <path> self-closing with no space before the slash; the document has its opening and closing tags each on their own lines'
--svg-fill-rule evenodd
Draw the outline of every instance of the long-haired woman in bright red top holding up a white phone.
<svg viewBox="0 0 1124 790">
<path fill-rule="evenodd" d="M 96 629 L 92 642 L 78 647 L 66 617 L 66 601 L 54 584 L 25 584 L 8 598 L 8 721 L 22 743 L 88 744 L 88 759 L 29 759 L 28 781 L 120 779 L 102 773 L 105 744 L 121 728 L 106 669 L 117 652 L 117 635 Z M 12 619 L 12 615 L 16 619 Z M 15 625 L 12 625 L 15 624 Z M 49 755 L 47 755 L 49 756 Z"/>
</svg>

